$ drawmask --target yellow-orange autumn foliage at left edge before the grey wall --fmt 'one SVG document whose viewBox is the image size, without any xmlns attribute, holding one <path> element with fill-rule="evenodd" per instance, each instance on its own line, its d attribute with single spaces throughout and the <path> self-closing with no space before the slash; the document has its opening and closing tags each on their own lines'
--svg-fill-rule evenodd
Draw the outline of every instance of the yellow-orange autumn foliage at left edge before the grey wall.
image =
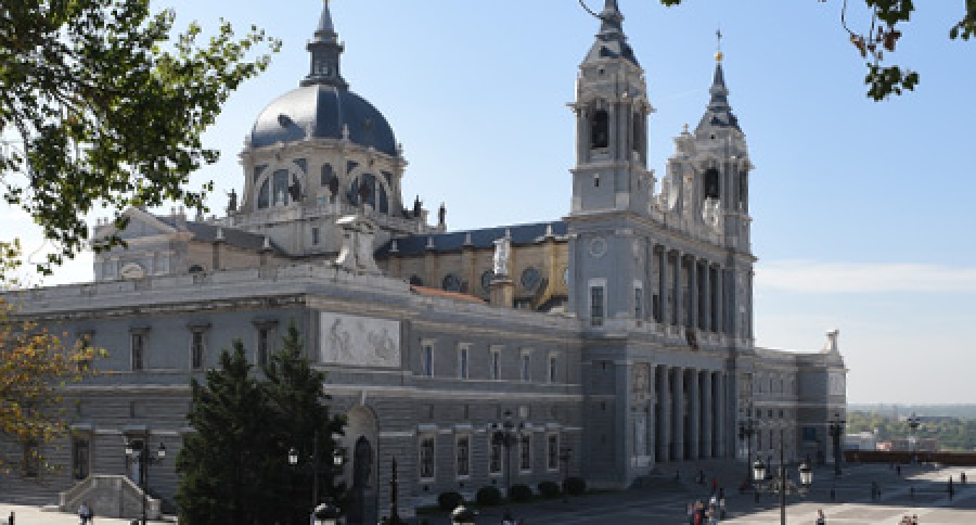
<svg viewBox="0 0 976 525">
<path fill-rule="evenodd" d="M 20 247 L 0 243 L 0 277 L 16 271 Z M 0 449 L 0 472 L 17 465 L 53 470 L 60 465 L 44 450 L 67 435 L 64 388 L 94 374 L 94 359 L 105 353 L 85 338 L 68 345 L 68 334 L 23 319 L 16 300 L 15 293 L 0 297 L 0 440 L 23 447 L 23 453 Z"/>
</svg>

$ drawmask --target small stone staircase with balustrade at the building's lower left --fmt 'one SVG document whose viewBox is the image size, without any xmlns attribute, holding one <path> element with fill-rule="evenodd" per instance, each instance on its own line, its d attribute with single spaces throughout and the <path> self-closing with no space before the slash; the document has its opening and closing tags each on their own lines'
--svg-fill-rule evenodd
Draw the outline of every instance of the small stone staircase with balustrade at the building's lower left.
<svg viewBox="0 0 976 525">
<path fill-rule="evenodd" d="M 75 512 L 82 502 L 88 503 L 95 517 L 142 515 L 142 489 L 126 476 L 88 476 L 84 482 L 61 492 L 57 507 L 63 512 Z M 158 520 L 162 515 L 162 501 L 146 496 L 145 509 L 150 520 Z"/>
</svg>

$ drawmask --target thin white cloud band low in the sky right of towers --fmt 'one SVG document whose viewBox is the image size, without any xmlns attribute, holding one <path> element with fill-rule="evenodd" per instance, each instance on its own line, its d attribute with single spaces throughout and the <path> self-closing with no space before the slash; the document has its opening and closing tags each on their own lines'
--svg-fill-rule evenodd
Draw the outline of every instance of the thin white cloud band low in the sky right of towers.
<svg viewBox="0 0 976 525">
<path fill-rule="evenodd" d="M 772 261 L 756 267 L 757 289 L 801 293 L 976 292 L 976 268 L 939 265 Z"/>
</svg>

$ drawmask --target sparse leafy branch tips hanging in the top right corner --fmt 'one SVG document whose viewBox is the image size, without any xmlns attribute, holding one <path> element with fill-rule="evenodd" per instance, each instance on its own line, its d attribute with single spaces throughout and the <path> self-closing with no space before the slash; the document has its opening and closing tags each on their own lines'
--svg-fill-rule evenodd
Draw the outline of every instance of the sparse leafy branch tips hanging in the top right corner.
<svg viewBox="0 0 976 525">
<path fill-rule="evenodd" d="M 582 0 L 580 0 L 582 1 Z M 660 0 L 664 5 L 678 5 L 683 0 Z M 818 0 L 826 2 L 826 0 Z M 840 8 L 840 23 L 850 36 L 850 43 L 857 49 L 862 59 L 866 59 L 868 74 L 864 84 L 868 85 L 868 97 L 881 101 L 891 94 L 901 94 L 903 91 L 914 90 L 919 84 L 919 73 L 912 69 L 903 69 L 898 65 L 885 66 L 885 53 L 894 53 L 901 38 L 903 24 L 911 21 L 915 12 L 915 3 L 912 0 L 862 0 L 871 12 L 871 21 L 865 24 L 865 29 L 852 28 L 847 13 L 847 0 Z M 976 36 L 976 0 L 965 0 L 962 18 L 949 28 L 949 38 L 952 40 L 968 40 Z"/>
</svg>

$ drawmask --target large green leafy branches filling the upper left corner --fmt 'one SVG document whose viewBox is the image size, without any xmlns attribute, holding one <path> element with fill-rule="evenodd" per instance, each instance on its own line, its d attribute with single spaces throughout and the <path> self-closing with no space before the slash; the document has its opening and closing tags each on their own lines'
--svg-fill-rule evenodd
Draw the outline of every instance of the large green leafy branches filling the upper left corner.
<svg viewBox="0 0 976 525">
<path fill-rule="evenodd" d="M 174 18 L 151 13 L 150 0 L 3 2 L 0 137 L 17 146 L 0 151 L 0 191 L 60 245 L 50 262 L 84 247 L 99 205 L 204 208 L 213 184 L 187 184 L 218 152 L 201 136 L 230 92 L 267 68 L 269 55 L 253 54 L 279 42 L 255 27 L 237 39 L 226 22 L 203 42 L 197 24 L 174 35 Z"/>
</svg>

